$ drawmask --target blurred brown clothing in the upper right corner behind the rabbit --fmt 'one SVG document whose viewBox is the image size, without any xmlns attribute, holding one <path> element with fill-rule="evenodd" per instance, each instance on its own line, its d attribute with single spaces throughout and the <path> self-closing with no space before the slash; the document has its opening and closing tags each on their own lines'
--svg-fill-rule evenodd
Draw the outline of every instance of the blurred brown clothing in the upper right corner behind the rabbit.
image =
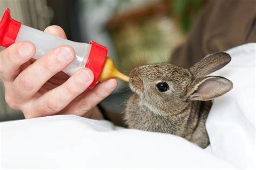
<svg viewBox="0 0 256 170">
<path fill-rule="evenodd" d="M 207 54 L 248 42 L 256 42 L 256 1 L 213 0 L 200 11 L 187 41 L 170 62 L 188 68 Z"/>
</svg>

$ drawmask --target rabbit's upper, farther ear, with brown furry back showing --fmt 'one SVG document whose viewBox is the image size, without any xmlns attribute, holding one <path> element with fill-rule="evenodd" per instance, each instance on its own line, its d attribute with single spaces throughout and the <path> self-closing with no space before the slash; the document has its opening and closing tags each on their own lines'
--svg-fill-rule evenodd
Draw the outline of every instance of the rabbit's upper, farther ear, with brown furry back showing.
<svg viewBox="0 0 256 170">
<path fill-rule="evenodd" d="M 231 57 L 229 54 L 224 52 L 214 53 L 205 56 L 205 58 L 192 66 L 190 71 L 194 75 L 194 78 L 197 79 L 223 68 L 230 61 Z"/>
</svg>

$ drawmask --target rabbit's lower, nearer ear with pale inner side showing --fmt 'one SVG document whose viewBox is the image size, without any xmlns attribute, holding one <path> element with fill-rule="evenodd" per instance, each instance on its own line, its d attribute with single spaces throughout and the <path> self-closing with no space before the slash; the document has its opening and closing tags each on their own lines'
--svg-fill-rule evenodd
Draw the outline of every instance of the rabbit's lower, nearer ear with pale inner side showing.
<svg viewBox="0 0 256 170">
<path fill-rule="evenodd" d="M 224 77 L 208 76 L 195 80 L 188 89 L 190 100 L 208 101 L 224 95 L 233 88 L 233 83 Z"/>
</svg>

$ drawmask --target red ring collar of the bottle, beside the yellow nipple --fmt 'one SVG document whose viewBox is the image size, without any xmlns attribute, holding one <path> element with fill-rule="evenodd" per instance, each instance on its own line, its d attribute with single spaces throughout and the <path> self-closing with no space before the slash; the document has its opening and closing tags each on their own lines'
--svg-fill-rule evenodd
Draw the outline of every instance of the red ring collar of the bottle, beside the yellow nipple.
<svg viewBox="0 0 256 170">
<path fill-rule="evenodd" d="M 90 89 L 97 83 L 100 73 L 102 73 L 104 63 L 106 61 L 107 48 L 91 41 L 92 45 L 85 67 L 90 68 L 94 74 L 94 80 L 91 83 Z"/>
</svg>

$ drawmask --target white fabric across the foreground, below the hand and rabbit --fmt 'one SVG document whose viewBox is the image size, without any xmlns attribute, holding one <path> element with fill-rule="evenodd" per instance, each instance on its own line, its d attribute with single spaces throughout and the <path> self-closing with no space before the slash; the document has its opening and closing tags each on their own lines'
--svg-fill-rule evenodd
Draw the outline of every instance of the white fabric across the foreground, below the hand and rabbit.
<svg viewBox="0 0 256 170">
<path fill-rule="evenodd" d="M 183 138 L 50 116 L 3 123 L 2 168 L 231 168 Z"/>
</svg>

